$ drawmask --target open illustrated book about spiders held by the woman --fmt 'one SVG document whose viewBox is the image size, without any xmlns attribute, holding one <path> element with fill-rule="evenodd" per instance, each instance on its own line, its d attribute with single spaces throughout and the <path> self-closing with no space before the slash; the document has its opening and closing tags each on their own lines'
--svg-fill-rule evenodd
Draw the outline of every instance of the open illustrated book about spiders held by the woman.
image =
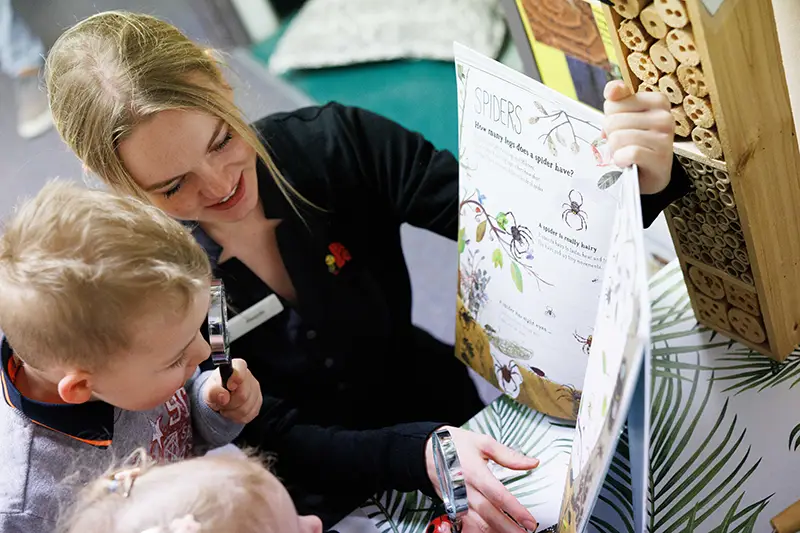
<svg viewBox="0 0 800 533">
<path fill-rule="evenodd" d="M 650 304 L 637 170 L 610 161 L 597 111 L 461 45 L 455 57 L 457 356 L 574 421 L 542 527 L 586 529 L 627 421 L 641 531 Z"/>
</svg>

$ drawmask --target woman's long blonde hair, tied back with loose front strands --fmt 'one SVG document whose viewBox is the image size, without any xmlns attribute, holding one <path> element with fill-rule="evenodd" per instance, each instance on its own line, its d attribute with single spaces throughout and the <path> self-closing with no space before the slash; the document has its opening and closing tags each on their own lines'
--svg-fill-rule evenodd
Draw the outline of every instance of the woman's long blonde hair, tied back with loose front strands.
<svg viewBox="0 0 800 533">
<path fill-rule="evenodd" d="M 45 79 L 61 138 L 117 191 L 147 198 L 125 169 L 119 143 L 148 117 L 184 109 L 225 121 L 255 150 L 290 203 L 292 196 L 309 203 L 284 179 L 225 94 L 228 84 L 212 50 L 163 20 L 126 11 L 93 15 L 58 38 Z"/>
</svg>

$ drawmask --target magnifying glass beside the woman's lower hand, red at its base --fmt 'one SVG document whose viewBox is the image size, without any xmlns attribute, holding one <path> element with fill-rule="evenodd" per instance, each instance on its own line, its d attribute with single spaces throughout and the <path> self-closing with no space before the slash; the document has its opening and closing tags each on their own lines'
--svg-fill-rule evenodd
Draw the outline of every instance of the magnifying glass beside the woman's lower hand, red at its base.
<svg viewBox="0 0 800 533">
<path fill-rule="evenodd" d="M 440 429 L 431 436 L 433 444 L 433 464 L 442 494 L 446 516 L 440 516 L 428 526 L 428 533 L 439 533 L 444 523 L 450 525 L 453 533 L 461 531 L 461 519 L 469 510 L 467 484 L 458 459 L 458 451 L 453 437 L 446 429 Z M 445 520 L 446 519 L 446 520 Z"/>
</svg>

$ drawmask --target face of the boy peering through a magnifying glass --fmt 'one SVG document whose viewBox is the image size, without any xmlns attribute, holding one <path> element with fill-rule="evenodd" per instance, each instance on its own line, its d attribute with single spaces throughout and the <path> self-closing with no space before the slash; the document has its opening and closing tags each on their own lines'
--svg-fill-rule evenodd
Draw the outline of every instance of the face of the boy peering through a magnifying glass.
<svg viewBox="0 0 800 533">
<path fill-rule="evenodd" d="M 93 397 L 128 411 L 155 409 L 169 400 L 211 353 L 200 334 L 209 295 L 208 288 L 202 290 L 183 313 L 155 308 L 142 317 L 130 349 L 113 354 L 116 363 L 92 376 Z"/>
</svg>

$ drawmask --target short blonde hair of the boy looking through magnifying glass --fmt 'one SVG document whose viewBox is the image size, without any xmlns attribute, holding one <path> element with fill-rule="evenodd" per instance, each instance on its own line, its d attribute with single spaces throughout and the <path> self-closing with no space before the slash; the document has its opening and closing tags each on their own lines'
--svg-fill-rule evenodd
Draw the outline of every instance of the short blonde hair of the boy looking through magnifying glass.
<svg viewBox="0 0 800 533">
<path fill-rule="evenodd" d="M 0 330 L 28 365 L 102 368 L 149 312 L 182 312 L 208 287 L 191 234 L 135 198 L 54 181 L 0 237 Z"/>
</svg>

